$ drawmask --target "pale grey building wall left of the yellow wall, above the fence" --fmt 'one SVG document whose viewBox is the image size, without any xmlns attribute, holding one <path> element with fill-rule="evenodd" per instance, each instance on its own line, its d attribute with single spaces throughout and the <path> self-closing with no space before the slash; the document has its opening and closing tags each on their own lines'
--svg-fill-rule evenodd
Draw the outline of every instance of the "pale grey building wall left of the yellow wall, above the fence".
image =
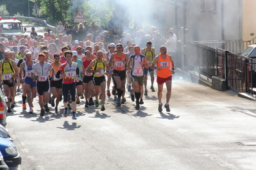
<svg viewBox="0 0 256 170">
<path fill-rule="evenodd" d="M 221 40 L 221 20 L 224 20 L 225 40 L 239 40 L 241 38 L 241 0 L 217 0 L 214 10 L 214 0 L 187 0 L 187 28 L 189 38 L 194 41 Z M 223 2 L 224 17 L 221 17 L 221 3 Z M 255 1 L 256 3 L 256 1 Z"/>
</svg>

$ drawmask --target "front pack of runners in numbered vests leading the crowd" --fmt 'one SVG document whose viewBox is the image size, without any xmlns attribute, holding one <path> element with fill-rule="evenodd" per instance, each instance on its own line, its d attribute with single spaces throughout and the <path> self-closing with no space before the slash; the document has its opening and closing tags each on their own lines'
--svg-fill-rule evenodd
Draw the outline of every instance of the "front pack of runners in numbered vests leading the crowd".
<svg viewBox="0 0 256 170">
<path fill-rule="evenodd" d="M 65 117 L 71 109 L 72 118 L 76 120 L 76 106 L 80 104 L 80 98 L 83 96 L 85 107 L 89 105 L 99 107 L 99 100 L 101 100 L 101 111 L 105 111 L 106 92 L 110 97 L 111 79 L 114 84 L 112 95 L 114 95 L 117 107 L 126 102 L 124 94 L 127 88 L 130 91 L 131 100 L 135 102 L 135 108 L 139 109 L 140 105 L 144 104 L 143 93 L 148 95 L 148 72 L 151 77 L 150 89 L 155 91 L 154 70 L 157 70 L 158 111 L 162 112 L 162 89 L 166 84 L 167 94 L 164 107 L 167 112 L 170 112 L 171 81 L 172 74 L 175 73 L 173 59 L 167 54 L 164 45 L 158 49 L 160 54 L 155 56 L 155 49 L 151 45 L 150 41 L 144 49 L 141 49 L 139 45 L 130 45 L 126 50 L 128 52 L 124 52 L 121 43 L 117 45 L 110 43 L 107 53 L 99 50 L 97 44 L 94 47 L 85 48 L 77 45 L 73 51 L 70 47 L 64 46 L 61 54 L 53 55 L 53 61 L 48 59 L 47 48 L 41 48 L 37 61 L 33 59 L 32 52 L 27 50 L 24 58 L 16 62 L 13 58 L 15 54 L 10 50 L 4 50 L 4 58 L 0 66 L 2 74 L 0 82 L 3 85 L 4 95 L 9 98 L 8 112 L 12 112 L 15 107 L 13 91 L 17 88 L 17 82 L 22 84 L 23 110 L 26 110 L 26 103 L 28 103 L 30 114 L 33 114 L 33 98 L 37 95 L 40 116 L 49 112 L 49 103 L 55 108 L 55 112 L 58 112 L 58 104 L 62 96 Z M 83 50 L 85 52 L 81 54 Z"/>
</svg>

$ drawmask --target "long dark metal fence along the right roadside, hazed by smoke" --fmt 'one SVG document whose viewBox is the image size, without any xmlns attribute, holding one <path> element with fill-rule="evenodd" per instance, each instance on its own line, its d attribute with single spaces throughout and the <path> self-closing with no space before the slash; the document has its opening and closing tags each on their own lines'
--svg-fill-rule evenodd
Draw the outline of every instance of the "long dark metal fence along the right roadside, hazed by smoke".
<svg viewBox="0 0 256 170">
<path fill-rule="evenodd" d="M 212 76 L 221 77 L 226 80 L 226 86 L 234 91 L 256 93 L 256 57 L 248 58 L 228 50 L 187 42 L 185 69 L 209 79 Z"/>
</svg>

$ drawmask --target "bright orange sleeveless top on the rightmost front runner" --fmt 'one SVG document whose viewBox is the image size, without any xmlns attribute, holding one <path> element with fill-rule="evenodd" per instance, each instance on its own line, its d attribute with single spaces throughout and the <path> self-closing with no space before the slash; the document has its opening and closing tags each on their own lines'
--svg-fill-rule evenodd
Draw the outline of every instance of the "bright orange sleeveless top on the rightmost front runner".
<svg viewBox="0 0 256 170">
<path fill-rule="evenodd" d="M 171 76 L 171 60 L 169 55 L 166 54 L 166 59 L 162 58 L 162 54 L 158 54 L 159 60 L 157 61 L 157 67 L 162 68 L 162 70 L 157 70 L 157 76 L 161 78 L 167 78 Z"/>
</svg>

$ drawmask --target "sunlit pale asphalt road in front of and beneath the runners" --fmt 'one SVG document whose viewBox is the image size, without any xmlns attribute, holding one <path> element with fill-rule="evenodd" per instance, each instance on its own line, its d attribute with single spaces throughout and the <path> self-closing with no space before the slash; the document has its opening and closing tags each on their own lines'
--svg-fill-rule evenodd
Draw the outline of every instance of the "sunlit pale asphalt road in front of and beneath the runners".
<svg viewBox="0 0 256 170">
<path fill-rule="evenodd" d="M 158 112 L 157 92 L 149 90 L 139 111 L 126 99 L 115 107 L 107 97 L 104 112 L 81 102 L 72 120 L 53 108 L 39 116 L 37 99 L 28 114 L 17 93 L 7 128 L 19 169 L 256 168 L 255 102 L 182 79 L 173 81 L 170 113 Z"/>
</svg>

